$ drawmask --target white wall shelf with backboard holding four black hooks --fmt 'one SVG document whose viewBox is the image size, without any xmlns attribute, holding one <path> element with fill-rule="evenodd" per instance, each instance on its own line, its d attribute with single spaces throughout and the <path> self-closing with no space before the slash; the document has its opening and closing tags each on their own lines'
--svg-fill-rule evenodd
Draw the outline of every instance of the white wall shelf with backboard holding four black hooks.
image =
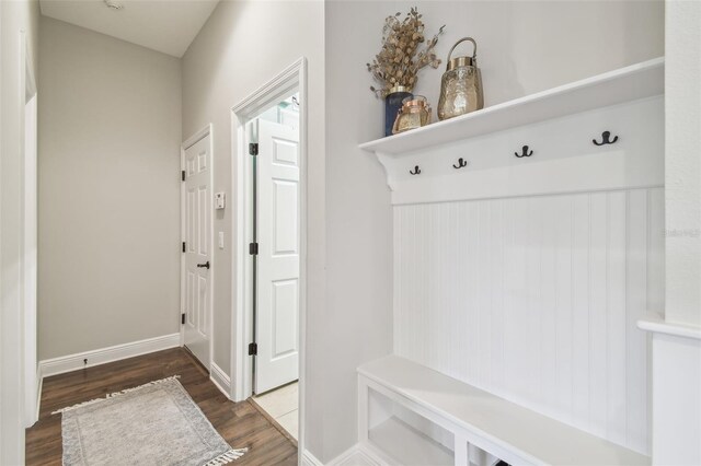
<svg viewBox="0 0 701 466">
<path fill-rule="evenodd" d="M 360 148 L 394 205 L 662 186 L 663 94 L 657 58 Z"/>
</svg>

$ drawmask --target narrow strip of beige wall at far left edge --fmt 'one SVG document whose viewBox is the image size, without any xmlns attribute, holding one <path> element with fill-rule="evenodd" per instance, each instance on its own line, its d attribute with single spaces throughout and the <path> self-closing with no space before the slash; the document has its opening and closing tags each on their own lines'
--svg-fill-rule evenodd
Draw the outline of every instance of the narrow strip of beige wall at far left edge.
<svg viewBox="0 0 701 466">
<path fill-rule="evenodd" d="M 24 328 L 20 199 L 24 196 L 21 31 L 36 77 L 37 1 L 0 1 L 0 464 L 24 464 Z"/>
</svg>

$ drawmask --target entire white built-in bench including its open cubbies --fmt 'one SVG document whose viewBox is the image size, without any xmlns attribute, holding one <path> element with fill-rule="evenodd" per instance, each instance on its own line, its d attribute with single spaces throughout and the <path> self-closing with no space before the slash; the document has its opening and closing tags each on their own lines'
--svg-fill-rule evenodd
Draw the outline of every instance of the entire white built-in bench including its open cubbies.
<svg viewBox="0 0 701 466">
<path fill-rule="evenodd" d="M 358 439 L 391 465 L 648 465 L 633 452 L 404 358 L 358 368 Z"/>
</svg>

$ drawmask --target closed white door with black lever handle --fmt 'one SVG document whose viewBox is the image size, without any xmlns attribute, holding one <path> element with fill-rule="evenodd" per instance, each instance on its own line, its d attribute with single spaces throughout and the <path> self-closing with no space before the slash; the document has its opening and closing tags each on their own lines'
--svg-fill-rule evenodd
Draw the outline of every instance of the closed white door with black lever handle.
<svg viewBox="0 0 701 466">
<path fill-rule="evenodd" d="M 183 341 L 207 369 L 211 339 L 211 135 L 183 153 Z"/>
</svg>

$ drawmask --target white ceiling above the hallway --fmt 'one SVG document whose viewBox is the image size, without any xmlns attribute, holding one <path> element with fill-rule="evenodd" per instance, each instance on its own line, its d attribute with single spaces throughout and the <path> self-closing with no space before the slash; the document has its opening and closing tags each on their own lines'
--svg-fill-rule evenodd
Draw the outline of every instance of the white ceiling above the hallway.
<svg viewBox="0 0 701 466">
<path fill-rule="evenodd" d="M 219 0 L 39 0 L 42 14 L 182 57 Z"/>
</svg>

